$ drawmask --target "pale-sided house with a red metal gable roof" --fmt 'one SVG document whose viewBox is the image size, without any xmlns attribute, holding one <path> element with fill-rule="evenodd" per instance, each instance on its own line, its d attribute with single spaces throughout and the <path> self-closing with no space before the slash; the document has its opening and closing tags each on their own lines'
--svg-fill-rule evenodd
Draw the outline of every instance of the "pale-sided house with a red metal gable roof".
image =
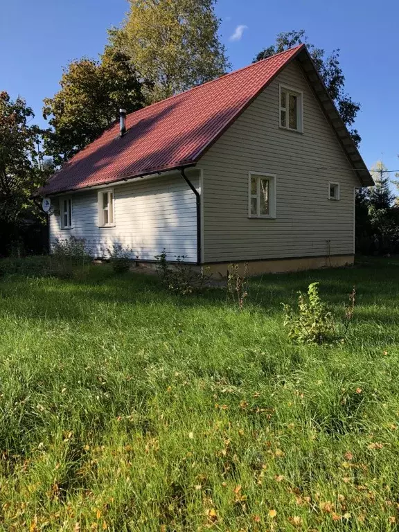
<svg viewBox="0 0 399 532">
<path fill-rule="evenodd" d="M 353 263 L 355 188 L 373 179 L 304 45 L 109 127 L 55 173 L 51 242 L 184 256 L 225 274 Z"/>
</svg>

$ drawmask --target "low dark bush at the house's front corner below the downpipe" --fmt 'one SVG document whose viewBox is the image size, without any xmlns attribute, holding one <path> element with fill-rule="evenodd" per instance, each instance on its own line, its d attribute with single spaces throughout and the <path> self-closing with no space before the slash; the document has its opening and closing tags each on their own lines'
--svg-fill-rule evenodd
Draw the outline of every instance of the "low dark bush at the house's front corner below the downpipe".
<svg viewBox="0 0 399 532">
<path fill-rule="evenodd" d="M 198 273 L 192 265 L 185 263 L 186 255 L 176 257 L 176 263 L 171 265 L 166 260 L 166 251 L 155 256 L 157 260 L 157 274 L 164 286 L 182 296 L 202 292 L 209 282 L 209 275 Z"/>
</svg>

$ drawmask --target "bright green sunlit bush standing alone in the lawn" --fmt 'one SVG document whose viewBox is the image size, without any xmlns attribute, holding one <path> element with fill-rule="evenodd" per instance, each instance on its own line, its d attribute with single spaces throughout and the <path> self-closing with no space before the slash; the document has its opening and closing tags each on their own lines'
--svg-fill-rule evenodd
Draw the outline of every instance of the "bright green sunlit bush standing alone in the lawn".
<svg viewBox="0 0 399 532">
<path fill-rule="evenodd" d="M 290 305 L 283 303 L 284 326 L 288 336 L 300 344 L 323 344 L 330 342 L 335 333 L 335 321 L 319 296 L 319 283 L 308 287 L 308 294 L 299 292 L 296 314 Z"/>
</svg>

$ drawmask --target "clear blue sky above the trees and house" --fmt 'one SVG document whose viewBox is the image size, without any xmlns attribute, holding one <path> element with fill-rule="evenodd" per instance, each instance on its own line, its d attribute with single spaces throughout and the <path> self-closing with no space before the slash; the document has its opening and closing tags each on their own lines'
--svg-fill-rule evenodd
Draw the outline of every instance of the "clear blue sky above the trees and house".
<svg viewBox="0 0 399 532">
<path fill-rule="evenodd" d="M 62 67 L 97 57 L 127 8 L 125 0 L 0 0 L 0 90 L 24 96 L 45 125 L 42 100 L 57 91 Z M 362 104 L 356 127 L 366 164 L 383 152 L 386 166 L 399 168 L 397 0 L 219 0 L 217 12 L 233 69 L 280 31 L 304 28 L 316 46 L 340 48 L 346 89 Z"/>
</svg>

